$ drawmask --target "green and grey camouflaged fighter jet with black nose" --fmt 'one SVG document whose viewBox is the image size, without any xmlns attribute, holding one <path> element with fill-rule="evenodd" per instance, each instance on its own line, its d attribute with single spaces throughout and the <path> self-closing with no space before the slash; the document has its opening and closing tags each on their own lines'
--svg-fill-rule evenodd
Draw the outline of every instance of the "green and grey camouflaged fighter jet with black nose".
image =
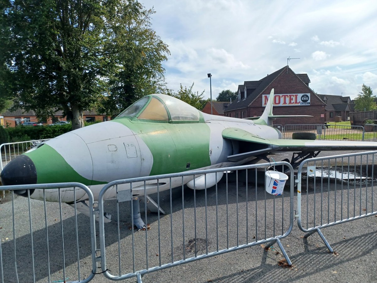
<svg viewBox="0 0 377 283">
<path fill-rule="evenodd" d="M 273 97 L 272 89 L 270 97 Z M 79 182 L 94 198 L 113 180 L 160 175 L 197 169 L 225 168 L 268 160 L 276 151 L 296 152 L 295 167 L 323 150 L 377 149 L 365 141 L 285 140 L 272 127 L 274 99 L 257 120 L 205 114 L 181 100 L 164 94 L 147 95 L 115 119 L 60 135 L 37 149 L 15 158 L 1 172 L 3 185 Z M 299 153 L 297 153 L 299 152 Z M 192 189 L 215 185 L 222 174 L 185 177 Z M 182 178 L 172 179 L 172 188 Z M 156 181 L 147 182 L 147 195 L 157 191 Z M 169 179 L 159 180 L 159 191 L 170 188 Z M 127 187 L 128 186 L 128 187 Z M 124 185 L 123 188 L 129 188 Z M 26 191 L 18 194 L 27 196 Z M 144 195 L 144 182 L 133 184 L 133 196 Z M 30 197 L 43 200 L 43 190 L 30 190 Z M 147 197 L 147 196 L 145 196 Z M 105 199 L 116 198 L 115 189 Z M 49 189 L 47 201 L 59 201 L 58 189 Z M 61 201 L 73 204 L 86 200 L 83 190 L 61 189 Z M 155 206 L 153 201 L 152 205 Z M 159 208 L 158 208 L 159 209 Z"/>
</svg>

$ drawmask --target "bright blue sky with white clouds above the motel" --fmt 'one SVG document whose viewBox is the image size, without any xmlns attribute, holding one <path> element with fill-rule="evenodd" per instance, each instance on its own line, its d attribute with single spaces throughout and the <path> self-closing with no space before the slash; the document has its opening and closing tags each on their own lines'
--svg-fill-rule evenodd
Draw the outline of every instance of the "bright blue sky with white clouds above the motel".
<svg viewBox="0 0 377 283">
<path fill-rule="evenodd" d="M 154 7 L 152 28 L 169 45 L 168 87 L 210 97 L 236 91 L 287 65 L 319 94 L 377 95 L 376 1 L 139 0 Z"/>
</svg>

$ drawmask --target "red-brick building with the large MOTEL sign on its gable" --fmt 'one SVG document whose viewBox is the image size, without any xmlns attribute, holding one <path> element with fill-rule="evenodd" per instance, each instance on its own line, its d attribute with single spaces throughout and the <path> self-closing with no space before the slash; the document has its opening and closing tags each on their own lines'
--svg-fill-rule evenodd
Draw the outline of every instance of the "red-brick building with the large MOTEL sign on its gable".
<svg viewBox="0 0 377 283">
<path fill-rule="evenodd" d="M 323 124 L 326 102 L 309 88 L 307 74 L 295 74 L 289 66 L 258 81 L 245 81 L 238 86 L 238 100 L 224 110 L 226 117 L 248 118 L 261 116 L 274 89 L 274 115 L 311 115 L 313 117 L 280 118 L 274 124 Z"/>
</svg>

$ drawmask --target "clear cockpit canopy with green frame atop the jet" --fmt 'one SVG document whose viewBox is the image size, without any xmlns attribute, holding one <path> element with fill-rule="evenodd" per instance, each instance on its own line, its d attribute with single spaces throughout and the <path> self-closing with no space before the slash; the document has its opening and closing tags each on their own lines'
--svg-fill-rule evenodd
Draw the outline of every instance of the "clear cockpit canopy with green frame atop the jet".
<svg viewBox="0 0 377 283">
<path fill-rule="evenodd" d="M 147 95 L 124 110 L 116 118 L 136 117 L 156 121 L 199 121 L 199 110 L 166 94 Z"/>
</svg>

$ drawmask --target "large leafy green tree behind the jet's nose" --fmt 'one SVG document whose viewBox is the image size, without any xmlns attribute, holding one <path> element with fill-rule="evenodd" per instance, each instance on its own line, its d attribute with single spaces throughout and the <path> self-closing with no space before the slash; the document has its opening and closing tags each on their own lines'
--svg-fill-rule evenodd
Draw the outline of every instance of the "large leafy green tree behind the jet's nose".
<svg viewBox="0 0 377 283">
<path fill-rule="evenodd" d="M 136 0 L 8 0 L 0 88 L 38 118 L 62 109 L 72 129 L 84 110 L 117 114 L 164 85 L 169 50 L 150 28 L 153 12 Z"/>
</svg>

